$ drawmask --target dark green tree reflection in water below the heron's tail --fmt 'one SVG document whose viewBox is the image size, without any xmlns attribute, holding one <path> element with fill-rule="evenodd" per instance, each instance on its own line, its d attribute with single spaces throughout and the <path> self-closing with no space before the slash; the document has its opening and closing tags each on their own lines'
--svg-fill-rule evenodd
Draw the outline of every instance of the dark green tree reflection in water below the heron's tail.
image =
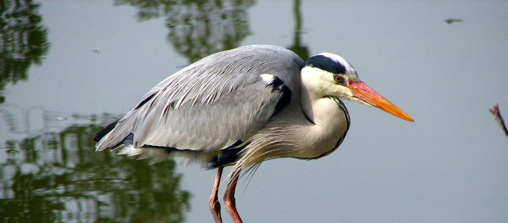
<svg viewBox="0 0 508 223">
<path fill-rule="evenodd" d="M 102 126 L 91 120 L 0 146 L 0 219 L 183 222 L 190 194 L 180 189 L 174 162 L 94 152 L 91 139 Z"/>
</svg>

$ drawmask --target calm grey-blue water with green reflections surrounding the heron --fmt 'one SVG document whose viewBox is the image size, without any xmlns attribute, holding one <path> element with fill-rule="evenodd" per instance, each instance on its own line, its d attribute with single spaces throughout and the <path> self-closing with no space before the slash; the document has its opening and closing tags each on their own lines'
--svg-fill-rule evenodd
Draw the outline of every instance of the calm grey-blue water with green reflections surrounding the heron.
<svg viewBox="0 0 508 223">
<path fill-rule="evenodd" d="M 339 150 L 265 162 L 239 185 L 246 222 L 508 220 L 508 139 L 488 112 L 508 117 L 506 2 L 8 2 L 4 222 L 211 222 L 213 171 L 97 153 L 91 138 L 168 75 L 249 44 L 339 54 L 416 122 L 346 102 Z"/>
</svg>

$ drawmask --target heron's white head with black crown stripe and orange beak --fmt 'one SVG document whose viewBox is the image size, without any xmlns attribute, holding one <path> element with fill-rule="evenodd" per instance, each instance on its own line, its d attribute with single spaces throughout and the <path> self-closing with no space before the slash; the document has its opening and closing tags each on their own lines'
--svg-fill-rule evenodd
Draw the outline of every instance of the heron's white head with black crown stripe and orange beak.
<svg viewBox="0 0 508 223">
<path fill-rule="evenodd" d="M 332 53 L 310 57 L 302 68 L 302 79 L 321 97 L 337 97 L 376 107 L 407 121 L 414 121 L 404 111 L 363 83 L 353 66 Z"/>
</svg>

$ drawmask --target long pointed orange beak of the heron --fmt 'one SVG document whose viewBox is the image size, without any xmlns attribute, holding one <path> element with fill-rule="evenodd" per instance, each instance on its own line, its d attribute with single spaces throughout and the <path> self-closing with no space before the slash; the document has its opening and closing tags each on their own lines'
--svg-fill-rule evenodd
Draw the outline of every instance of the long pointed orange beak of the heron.
<svg viewBox="0 0 508 223">
<path fill-rule="evenodd" d="M 347 87 L 353 91 L 353 96 L 355 98 L 406 121 L 415 121 L 404 111 L 397 108 L 397 106 L 386 100 L 383 96 L 379 95 L 362 81 L 348 81 Z"/>
</svg>

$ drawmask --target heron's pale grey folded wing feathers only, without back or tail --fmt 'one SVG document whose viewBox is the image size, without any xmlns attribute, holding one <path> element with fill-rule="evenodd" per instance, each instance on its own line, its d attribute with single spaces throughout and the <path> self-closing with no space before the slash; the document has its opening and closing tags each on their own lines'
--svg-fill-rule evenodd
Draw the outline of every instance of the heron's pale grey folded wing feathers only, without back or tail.
<svg viewBox="0 0 508 223">
<path fill-rule="evenodd" d="M 134 146 L 164 146 L 189 150 L 224 149 L 245 142 L 274 113 L 284 91 L 274 90 L 275 79 L 239 74 L 230 82 L 241 88 L 210 102 L 188 99 L 166 103 L 169 93 L 156 97 L 134 129 Z M 281 86 L 277 86 L 282 89 Z M 218 87 L 222 89 L 222 87 Z"/>
</svg>

